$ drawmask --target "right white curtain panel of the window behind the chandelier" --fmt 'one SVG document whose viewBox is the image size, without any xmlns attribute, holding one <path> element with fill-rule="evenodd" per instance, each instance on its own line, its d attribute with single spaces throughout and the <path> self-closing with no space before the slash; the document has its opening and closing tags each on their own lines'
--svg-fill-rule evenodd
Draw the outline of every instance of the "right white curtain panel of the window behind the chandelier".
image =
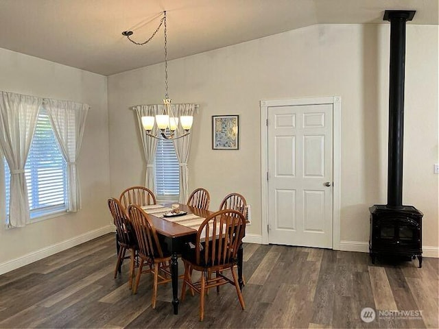
<svg viewBox="0 0 439 329">
<path fill-rule="evenodd" d="M 194 115 L 195 104 L 175 104 L 175 113 L 178 117 L 182 115 Z M 195 120 L 195 119 L 194 119 Z M 189 197 L 189 169 L 187 162 L 189 161 L 189 151 L 191 150 L 192 134 L 188 136 L 174 139 L 174 147 L 180 165 L 180 195 L 178 195 L 178 202 L 186 204 Z"/>
</svg>

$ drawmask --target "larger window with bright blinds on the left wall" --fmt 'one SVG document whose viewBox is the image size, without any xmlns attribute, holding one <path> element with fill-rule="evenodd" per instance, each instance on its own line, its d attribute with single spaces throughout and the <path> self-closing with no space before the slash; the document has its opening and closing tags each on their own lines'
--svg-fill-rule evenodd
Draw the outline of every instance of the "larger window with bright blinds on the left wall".
<svg viewBox="0 0 439 329">
<path fill-rule="evenodd" d="M 9 216 L 10 170 L 6 160 L 4 166 L 6 215 Z M 47 111 L 40 108 L 34 138 L 25 164 L 31 219 L 66 208 L 66 171 L 66 162 L 60 152 Z"/>
</svg>

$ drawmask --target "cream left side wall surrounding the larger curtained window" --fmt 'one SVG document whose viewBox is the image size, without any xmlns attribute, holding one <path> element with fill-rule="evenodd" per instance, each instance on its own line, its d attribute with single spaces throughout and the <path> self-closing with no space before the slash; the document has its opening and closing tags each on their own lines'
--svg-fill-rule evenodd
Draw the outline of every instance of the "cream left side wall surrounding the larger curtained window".
<svg viewBox="0 0 439 329">
<path fill-rule="evenodd" d="M 0 90 L 91 106 L 78 159 L 82 210 L 25 228 L 5 230 L 1 224 L 1 273 L 108 232 L 110 213 L 106 199 L 110 194 L 110 167 L 106 77 L 5 49 L 0 49 L 0 72 Z M 3 193 L 0 189 L 4 203 Z"/>
</svg>

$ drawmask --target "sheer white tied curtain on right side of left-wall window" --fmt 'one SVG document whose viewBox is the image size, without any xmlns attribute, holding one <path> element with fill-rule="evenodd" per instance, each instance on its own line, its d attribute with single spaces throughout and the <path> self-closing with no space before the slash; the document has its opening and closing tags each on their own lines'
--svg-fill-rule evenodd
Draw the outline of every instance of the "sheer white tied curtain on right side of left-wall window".
<svg viewBox="0 0 439 329">
<path fill-rule="evenodd" d="M 44 106 L 62 156 L 67 162 L 67 211 L 77 212 L 81 208 L 82 200 L 76 160 L 80 154 L 85 120 L 90 106 L 57 99 L 45 99 Z"/>
</svg>

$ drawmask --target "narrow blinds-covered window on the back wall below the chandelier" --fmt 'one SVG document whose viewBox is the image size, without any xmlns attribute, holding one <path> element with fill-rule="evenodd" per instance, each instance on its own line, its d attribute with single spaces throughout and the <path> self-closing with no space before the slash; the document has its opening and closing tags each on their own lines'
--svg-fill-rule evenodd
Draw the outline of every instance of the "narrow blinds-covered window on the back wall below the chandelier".
<svg viewBox="0 0 439 329">
<path fill-rule="evenodd" d="M 174 143 L 157 142 L 156 149 L 156 196 L 158 199 L 178 199 L 180 193 L 180 171 Z"/>
</svg>

